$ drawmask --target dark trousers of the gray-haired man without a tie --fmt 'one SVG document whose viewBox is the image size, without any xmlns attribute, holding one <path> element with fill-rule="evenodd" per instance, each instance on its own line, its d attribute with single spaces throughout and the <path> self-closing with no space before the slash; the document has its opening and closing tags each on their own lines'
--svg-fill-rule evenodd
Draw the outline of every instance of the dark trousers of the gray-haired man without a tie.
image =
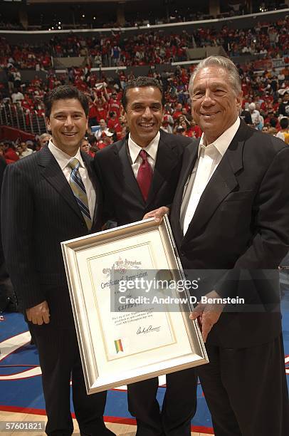
<svg viewBox="0 0 289 436">
<path fill-rule="evenodd" d="M 210 363 L 197 373 L 215 436 L 289 435 L 282 336 L 251 348 L 206 350 Z"/>
</svg>

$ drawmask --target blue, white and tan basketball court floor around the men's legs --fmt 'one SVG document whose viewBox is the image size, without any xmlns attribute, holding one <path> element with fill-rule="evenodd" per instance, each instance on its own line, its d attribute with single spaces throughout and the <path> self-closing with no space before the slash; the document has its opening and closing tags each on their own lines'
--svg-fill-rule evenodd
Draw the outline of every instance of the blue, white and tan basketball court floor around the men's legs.
<svg viewBox="0 0 289 436">
<path fill-rule="evenodd" d="M 289 385 L 289 290 L 282 298 L 283 338 L 285 345 L 285 371 Z M 30 345 L 27 325 L 19 313 L 2 313 L 0 315 L 0 436 L 27 435 L 25 430 L 6 430 L 4 422 L 41 422 L 29 431 L 33 436 L 45 435 L 43 432 L 46 414 L 41 388 L 41 370 L 38 353 Z M 262 365 L 262 356 L 260 356 Z M 165 390 L 165 378 L 159 380 L 158 400 L 162 403 Z M 71 405 L 73 410 L 73 405 Z M 74 434 L 79 434 L 77 422 Z M 116 435 L 135 435 L 135 419 L 127 410 L 126 387 L 110 390 L 107 393 L 105 408 L 107 427 Z M 12 427 L 12 426 L 10 426 Z M 22 425 L 23 427 L 23 425 Z M 206 400 L 198 386 L 198 407 L 191 422 L 191 434 L 194 436 L 213 435 L 211 417 Z"/>
</svg>

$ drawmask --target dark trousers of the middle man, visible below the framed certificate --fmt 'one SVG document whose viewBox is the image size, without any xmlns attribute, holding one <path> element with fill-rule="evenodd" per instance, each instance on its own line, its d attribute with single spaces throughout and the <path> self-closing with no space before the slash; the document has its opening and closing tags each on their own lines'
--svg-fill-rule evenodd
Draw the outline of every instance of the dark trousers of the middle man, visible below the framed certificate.
<svg viewBox="0 0 289 436">
<path fill-rule="evenodd" d="M 127 386 L 130 413 L 137 418 L 137 436 L 190 436 L 196 412 L 196 373 L 189 368 L 167 374 L 162 412 L 157 402 L 158 378 Z"/>
</svg>

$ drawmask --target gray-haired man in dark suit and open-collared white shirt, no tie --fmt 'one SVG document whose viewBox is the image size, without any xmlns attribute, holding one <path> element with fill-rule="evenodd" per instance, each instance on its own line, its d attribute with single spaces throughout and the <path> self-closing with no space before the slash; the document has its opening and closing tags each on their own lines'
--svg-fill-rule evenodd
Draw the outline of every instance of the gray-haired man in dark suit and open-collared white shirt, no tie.
<svg viewBox="0 0 289 436">
<path fill-rule="evenodd" d="M 201 61 L 189 92 L 204 133 L 184 152 L 170 220 L 188 274 L 219 270 L 216 278 L 204 273 L 203 296 L 212 300 L 191 314 L 210 360 L 198 373 L 214 432 L 285 436 L 277 269 L 289 246 L 289 148 L 240 121 L 241 81 L 227 58 Z M 225 305 L 236 296 L 243 307 Z"/>
</svg>

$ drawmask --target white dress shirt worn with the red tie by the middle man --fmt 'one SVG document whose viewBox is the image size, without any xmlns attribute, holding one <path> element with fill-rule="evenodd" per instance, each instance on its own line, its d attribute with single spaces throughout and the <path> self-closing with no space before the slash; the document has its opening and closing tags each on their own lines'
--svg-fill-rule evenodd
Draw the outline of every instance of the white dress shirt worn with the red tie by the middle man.
<svg viewBox="0 0 289 436">
<path fill-rule="evenodd" d="M 137 178 L 137 172 L 142 164 L 142 157 L 140 157 L 140 151 L 145 150 L 147 152 L 147 162 L 152 167 L 152 172 L 154 172 L 154 165 L 157 159 L 157 147 L 159 146 L 160 133 L 158 132 L 154 139 L 149 142 L 147 147 L 140 147 L 132 140 L 132 137 L 128 137 L 128 150 L 130 152 L 130 158 L 132 160 L 132 171 L 134 172 L 135 178 Z"/>
</svg>

